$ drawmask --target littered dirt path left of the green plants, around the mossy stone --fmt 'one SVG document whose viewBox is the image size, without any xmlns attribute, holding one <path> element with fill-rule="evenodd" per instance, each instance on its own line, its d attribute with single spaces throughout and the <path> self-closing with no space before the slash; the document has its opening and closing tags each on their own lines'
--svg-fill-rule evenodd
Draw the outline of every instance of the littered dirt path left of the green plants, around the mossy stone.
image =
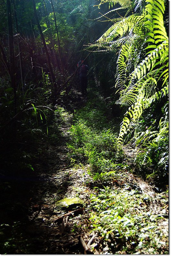
<svg viewBox="0 0 171 256">
<path fill-rule="evenodd" d="M 41 163 L 37 164 L 39 180 L 32 187 L 30 222 L 26 223 L 23 232 L 32 243 L 31 247 L 26 248 L 31 254 L 82 254 L 84 250 L 78 235 L 88 238 L 86 226 L 90 216 L 87 215 L 86 206 L 92 191 L 86 183 L 92 178 L 87 173 L 87 166 L 70 168 L 66 142 L 72 114 L 64 118 L 60 145 L 49 145 L 41 156 Z M 84 205 L 71 205 L 69 209 L 56 207 L 56 202 L 63 198 L 78 197 Z M 66 213 L 69 213 L 67 225 Z"/>
</svg>

